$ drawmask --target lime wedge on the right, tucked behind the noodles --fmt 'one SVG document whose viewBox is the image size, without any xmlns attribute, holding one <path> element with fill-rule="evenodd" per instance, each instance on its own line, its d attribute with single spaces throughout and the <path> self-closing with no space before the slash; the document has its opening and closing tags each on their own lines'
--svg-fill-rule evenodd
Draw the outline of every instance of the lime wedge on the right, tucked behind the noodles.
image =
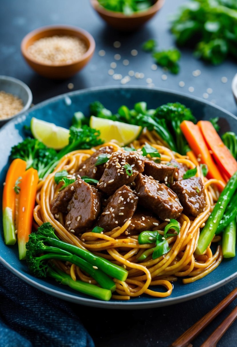
<svg viewBox="0 0 237 347">
<path fill-rule="evenodd" d="M 105 142 L 115 140 L 119 146 L 126 146 L 136 140 L 142 130 L 142 127 L 138 125 L 94 116 L 90 117 L 90 127 L 100 130 L 100 138 Z"/>
</svg>

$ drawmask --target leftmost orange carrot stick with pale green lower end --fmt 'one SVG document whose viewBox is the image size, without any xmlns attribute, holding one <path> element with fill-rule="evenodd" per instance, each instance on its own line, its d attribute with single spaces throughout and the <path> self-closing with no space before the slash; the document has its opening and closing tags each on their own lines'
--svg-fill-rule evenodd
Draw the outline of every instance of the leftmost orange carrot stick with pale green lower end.
<svg viewBox="0 0 237 347">
<path fill-rule="evenodd" d="M 2 222 L 3 235 L 6 245 L 14 245 L 16 243 L 15 234 L 15 199 L 17 193 L 14 190 L 16 181 L 22 177 L 26 169 L 26 162 L 22 159 L 14 159 L 7 171 L 5 185 L 2 195 Z M 20 183 L 19 183 L 20 187 Z"/>
</svg>

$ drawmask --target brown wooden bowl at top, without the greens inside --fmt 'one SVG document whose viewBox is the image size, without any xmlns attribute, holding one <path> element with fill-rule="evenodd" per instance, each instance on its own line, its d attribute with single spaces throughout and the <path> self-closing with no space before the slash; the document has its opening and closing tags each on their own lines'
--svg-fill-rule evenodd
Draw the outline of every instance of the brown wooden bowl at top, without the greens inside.
<svg viewBox="0 0 237 347">
<path fill-rule="evenodd" d="M 136 12 L 130 16 L 121 12 L 114 12 L 102 7 L 97 0 L 90 0 L 92 7 L 110 26 L 121 31 L 138 29 L 151 19 L 164 4 L 164 0 L 156 0 L 147 10 Z"/>
</svg>

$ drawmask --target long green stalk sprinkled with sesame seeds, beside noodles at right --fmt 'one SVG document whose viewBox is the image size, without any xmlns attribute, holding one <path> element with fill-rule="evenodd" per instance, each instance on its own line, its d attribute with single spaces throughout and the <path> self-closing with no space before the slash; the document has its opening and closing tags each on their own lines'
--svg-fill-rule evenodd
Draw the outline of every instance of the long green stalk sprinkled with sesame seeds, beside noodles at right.
<svg viewBox="0 0 237 347">
<path fill-rule="evenodd" d="M 196 247 L 196 254 L 203 254 L 207 246 L 210 244 L 213 236 L 216 233 L 216 229 L 223 217 L 223 214 L 230 202 L 230 199 L 234 195 L 237 189 L 237 171 L 232 177 L 230 177 L 223 191 L 221 192 L 215 207 L 206 221 L 205 227 L 203 228 Z"/>
</svg>

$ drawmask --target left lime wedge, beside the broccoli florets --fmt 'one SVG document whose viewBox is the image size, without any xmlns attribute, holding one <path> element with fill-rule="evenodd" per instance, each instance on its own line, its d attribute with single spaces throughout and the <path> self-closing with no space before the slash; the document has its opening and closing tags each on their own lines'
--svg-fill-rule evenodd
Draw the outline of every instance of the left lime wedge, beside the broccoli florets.
<svg viewBox="0 0 237 347">
<path fill-rule="evenodd" d="M 68 144 L 69 130 L 54 123 L 32 117 L 31 132 L 34 138 L 55 150 L 60 150 Z"/>
</svg>

